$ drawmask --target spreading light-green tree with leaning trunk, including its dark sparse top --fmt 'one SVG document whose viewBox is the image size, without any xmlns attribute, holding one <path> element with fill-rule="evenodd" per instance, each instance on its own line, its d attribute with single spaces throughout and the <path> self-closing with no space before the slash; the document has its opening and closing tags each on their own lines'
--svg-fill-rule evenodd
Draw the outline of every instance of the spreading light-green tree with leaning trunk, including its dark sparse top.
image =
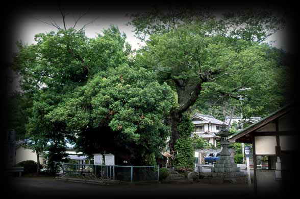
<svg viewBox="0 0 300 199">
<path fill-rule="evenodd" d="M 196 14 L 177 20 L 176 26 L 159 29 L 153 24 L 145 25 L 141 21 L 144 15 L 133 15 L 136 34 L 148 36 L 136 64 L 156 71 L 159 80 L 177 93 L 177 105 L 171 108 L 167 120 L 171 126 L 171 151 L 180 138 L 178 124 L 183 113 L 201 93 L 239 100 L 241 93 L 258 91 L 259 86 L 264 89 L 272 81 L 277 63 L 268 56 L 270 47 L 262 41 L 278 30 L 282 21 L 266 13 L 270 12 L 231 12 L 220 20 L 210 14 Z M 163 25 L 176 16 L 163 18 L 164 12 L 145 15 Z M 251 90 L 253 86 L 257 89 Z"/>
</svg>

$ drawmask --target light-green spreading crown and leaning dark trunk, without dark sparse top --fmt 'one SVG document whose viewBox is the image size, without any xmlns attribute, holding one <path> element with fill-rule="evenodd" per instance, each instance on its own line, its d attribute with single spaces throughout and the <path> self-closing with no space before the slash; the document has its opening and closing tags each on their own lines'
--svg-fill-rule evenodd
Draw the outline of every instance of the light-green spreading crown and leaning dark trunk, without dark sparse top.
<svg viewBox="0 0 300 199">
<path fill-rule="evenodd" d="M 177 92 L 177 105 L 170 110 L 170 150 L 179 139 L 177 125 L 182 114 L 204 95 L 226 95 L 239 100 L 237 93 L 268 79 L 272 60 L 267 46 L 219 35 L 209 36 L 199 25 L 182 26 L 164 35 L 152 35 L 136 64 L 157 72 Z M 266 85 L 266 84 L 264 84 Z"/>
</svg>

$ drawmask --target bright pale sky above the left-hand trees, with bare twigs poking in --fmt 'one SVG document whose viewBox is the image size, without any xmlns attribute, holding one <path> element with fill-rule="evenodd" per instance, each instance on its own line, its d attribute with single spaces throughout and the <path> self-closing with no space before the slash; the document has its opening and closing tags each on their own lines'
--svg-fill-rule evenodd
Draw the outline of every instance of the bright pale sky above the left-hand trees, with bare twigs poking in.
<svg viewBox="0 0 300 199">
<path fill-rule="evenodd" d="M 62 6 L 63 8 L 63 6 Z M 132 45 L 132 49 L 139 48 L 139 40 L 134 37 L 132 32 L 133 27 L 126 24 L 130 21 L 130 17 L 126 16 L 127 13 L 144 12 L 148 7 L 118 7 L 117 9 L 112 6 L 93 6 L 85 5 L 80 7 L 66 7 L 64 10 L 69 13 L 66 16 L 66 23 L 69 26 L 74 24 L 74 19 L 87 12 L 79 21 L 76 28 L 80 29 L 85 24 L 93 21 L 85 28 L 87 37 L 95 37 L 97 33 L 102 33 L 103 29 L 109 28 L 110 25 L 116 25 L 121 32 L 126 33 L 127 41 Z M 45 33 L 50 31 L 57 31 L 57 28 L 47 25 L 42 21 L 50 23 L 52 19 L 62 27 L 62 20 L 58 6 L 38 6 L 38 8 L 27 8 L 16 13 L 15 27 L 12 36 L 12 42 L 22 40 L 23 43 L 29 45 L 34 43 L 34 35 L 37 33 Z M 17 51 L 14 44 L 12 52 Z"/>
</svg>

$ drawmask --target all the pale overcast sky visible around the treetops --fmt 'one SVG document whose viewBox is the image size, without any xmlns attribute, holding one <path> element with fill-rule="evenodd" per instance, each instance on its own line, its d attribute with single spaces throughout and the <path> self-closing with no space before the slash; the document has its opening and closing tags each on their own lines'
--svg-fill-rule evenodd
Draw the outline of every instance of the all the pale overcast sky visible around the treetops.
<svg viewBox="0 0 300 199">
<path fill-rule="evenodd" d="M 76 4 L 61 5 L 61 8 L 66 13 L 66 23 L 69 26 L 74 24 L 74 20 L 80 15 L 87 12 L 78 22 L 76 28 L 80 29 L 85 24 L 93 21 L 92 24 L 86 26 L 85 33 L 87 37 L 95 37 L 97 33 L 102 33 L 103 29 L 109 28 L 110 25 L 118 26 L 121 32 L 126 33 L 127 41 L 131 44 L 132 50 L 138 49 L 142 44 L 136 37 L 134 37 L 133 26 L 127 26 L 130 17 L 126 14 L 136 12 L 146 12 L 151 6 L 138 4 L 124 4 L 124 5 L 101 5 L 101 4 Z M 221 9 L 223 9 L 221 7 Z M 32 4 L 28 7 L 22 7 L 13 12 L 13 19 L 9 31 L 9 40 L 11 45 L 8 48 L 8 62 L 12 61 L 12 54 L 17 52 L 16 41 L 22 41 L 24 44 L 31 45 L 35 43 L 34 35 L 38 33 L 46 33 L 50 31 L 57 31 L 54 26 L 43 23 L 51 23 L 53 20 L 62 27 L 61 14 L 58 4 Z M 268 40 L 275 40 L 272 45 L 290 52 L 291 42 L 291 24 L 287 24 L 284 30 L 280 30 L 268 38 Z M 16 88 L 17 79 L 13 82 L 13 87 Z M 13 89 L 14 90 L 14 89 Z"/>
</svg>

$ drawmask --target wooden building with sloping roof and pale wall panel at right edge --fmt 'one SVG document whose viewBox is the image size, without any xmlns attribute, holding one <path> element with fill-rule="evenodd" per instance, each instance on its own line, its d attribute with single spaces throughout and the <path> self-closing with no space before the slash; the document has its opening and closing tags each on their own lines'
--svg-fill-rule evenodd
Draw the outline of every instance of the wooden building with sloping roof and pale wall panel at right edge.
<svg viewBox="0 0 300 199">
<path fill-rule="evenodd" d="M 297 134 L 294 105 L 289 104 L 229 138 L 230 142 L 249 143 L 253 148 L 254 188 L 259 194 L 280 194 L 296 182 L 291 162 L 297 159 Z M 267 169 L 257 169 L 257 157 L 267 158 Z"/>
</svg>

